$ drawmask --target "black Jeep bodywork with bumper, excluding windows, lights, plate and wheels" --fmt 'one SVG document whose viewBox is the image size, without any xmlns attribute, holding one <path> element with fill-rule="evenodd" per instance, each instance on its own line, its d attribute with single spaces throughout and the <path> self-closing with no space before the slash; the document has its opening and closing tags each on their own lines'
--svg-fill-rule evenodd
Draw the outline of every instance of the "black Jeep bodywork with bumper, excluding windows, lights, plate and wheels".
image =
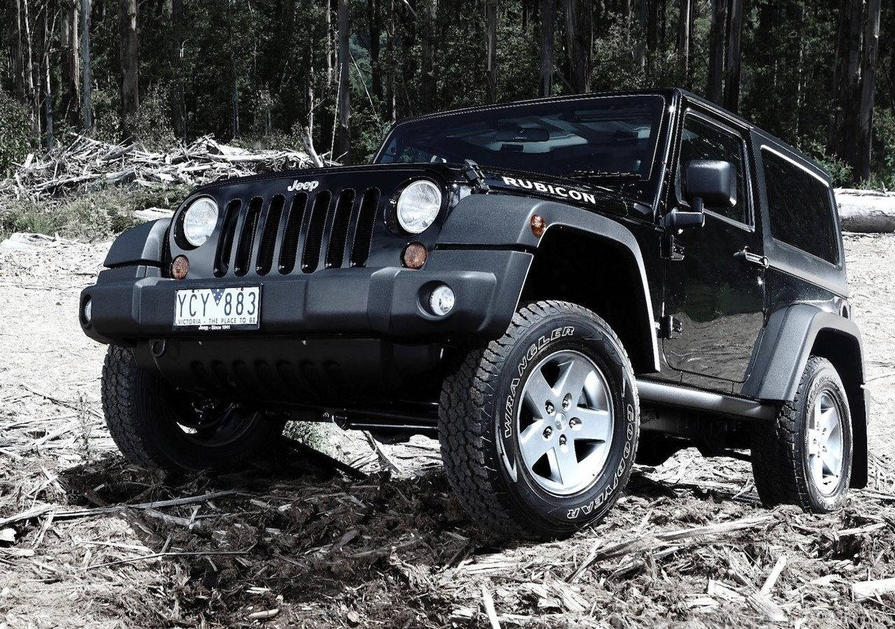
<svg viewBox="0 0 895 629">
<path fill-rule="evenodd" d="M 856 424 L 853 482 L 861 484 L 863 359 L 848 319 L 838 219 L 830 217 L 837 221 L 838 264 L 775 240 L 763 154 L 772 150 L 824 183 L 829 178 L 795 149 L 701 98 L 681 90 L 650 93 L 664 99 L 665 113 L 652 175 L 637 194 L 624 185 L 494 172 L 487 164 L 480 166 L 488 193 L 475 193 L 460 165 L 339 167 L 215 183 L 195 191 L 172 220 L 141 225 L 115 241 L 108 269 L 82 293 L 82 305 L 92 302 L 92 319 L 81 315 L 81 325 L 100 342 L 132 345 L 143 366 L 176 385 L 212 395 L 360 413 L 431 408 L 452 348 L 501 336 L 524 298 L 575 288 L 601 315 L 612 302 L 625 302 L 619 336 L 644 380 L 780 404 L 795 395 L 811 353 L 829 357 L 848 389 Z M 588 98 L 599 97 L 562 100 Z M 661 227 L 666 213 L 689 209 L 678 183 L 688 114 L 742 138 L 745 222 L 709 208 L 702 228 L 669 234 Z M 394 202 L 419 178 L 439 186 L 443 207 L 425 232 L 403 234 Z M 547 191 L 507 178 L 536 181 Z M 318 187 L 295 190 L 295 183 L 310 182 Z M 569 198 L 571 190 L 586 191 L 590 200 Z M 209 242 L 192 249 L 178 225 L 200 196 L 215 200 L 222 216 Z M 530 227 L 535 214 L 548 225 L 541 236 Z M 229 249 L 221 244 L 227 233 Z M 572 278 L 575 287 L 565 293 L 550 292 L 550 268 L 538 268 L 536 259 L 544 242 L 560 243 L 561 250 L 572 234 L 591 243 L 581 255 L 609 251 L 619 260 L 625 280 L 617 294 L 588 293 L 589 285 L 605 285 L 599 269 Z M 419 270 L 402 267 L 409 242 L 429 251 Z M 745 249 L 752 263 L 739 253 Z M 181 281 L 169 278 L 178 255 L 190 260 Z M 444 319 L 425 307 L 439 282 L 456 292 L 456 310 Z M 244 285 L 262 287 L 258 330 L 172 328 L 178 288 Z"/>
</svg>

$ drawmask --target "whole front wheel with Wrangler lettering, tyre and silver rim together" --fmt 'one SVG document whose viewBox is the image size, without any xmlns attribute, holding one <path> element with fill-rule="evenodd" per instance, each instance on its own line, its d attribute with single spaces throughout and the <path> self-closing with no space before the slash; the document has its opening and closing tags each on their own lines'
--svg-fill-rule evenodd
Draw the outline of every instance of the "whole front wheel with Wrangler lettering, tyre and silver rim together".
<svg viewBox="0 0 895 629">
<path fill-rule="evenodd" d="M 565 537 L 625 488 L 640 412 L 609 325 L 574 303 L 536 302 L 446 378 L 441 456 L 466 510 L 513 536 Z"/>
</svg>

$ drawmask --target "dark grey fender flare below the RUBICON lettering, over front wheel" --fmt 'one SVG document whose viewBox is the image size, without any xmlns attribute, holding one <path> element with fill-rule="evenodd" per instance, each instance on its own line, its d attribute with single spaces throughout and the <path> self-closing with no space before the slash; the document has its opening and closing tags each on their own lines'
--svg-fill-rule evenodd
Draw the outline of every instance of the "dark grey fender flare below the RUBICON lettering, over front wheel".
<svg viewBox="0 0 895 629">
<path fill-rule="evenodd" d="M 548 225 L 547 231 L 558 227 L 579 230 L 596 238 L 612 241 L 631 256 L 637 268 L 637 276 L 640 277 L 640 290 L 643 294 L 643 333 L 650 341 L 647 345 L 650 355 L 644 357 L 647 359 L 644 362 L 651 364 L 654 371 L 659 371 L 659 344 L 655 334 L 655 318 L 644 257 L 634 234 L 618 220 L 556 201 L 507 194 L 472 194 L 461 200 L 451 211 L 441 228 L 437 246 L 465 249 L 524 248 L 526 251 L 534 251 L 543 238 L 543 234 L 535 236 L 532 232 L 530 225 L 534 214 L 544 218 Z M 516 285 L 516 302 L 512 311 L 518 307 L 530 267 L 531 265 L 524 269 L 524 276 L 504 278 Z M 507 323 L 510 318 L 512 312 L 507 315 Z"/>
</svg>

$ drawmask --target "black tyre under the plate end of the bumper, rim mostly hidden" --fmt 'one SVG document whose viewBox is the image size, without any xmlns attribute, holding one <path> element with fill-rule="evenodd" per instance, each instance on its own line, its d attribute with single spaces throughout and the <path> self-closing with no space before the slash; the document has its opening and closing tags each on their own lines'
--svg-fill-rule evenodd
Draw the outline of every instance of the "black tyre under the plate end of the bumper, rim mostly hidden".
<svg viewBox="0 0 895 629">
<path fill-rule="evenodd" d="M 173 420 L 172 387 L 142 370 L 129 348 L 109 345 L 102 403 L 115 444 L 131 463 L 169 472 L 231 470 L 268 452 L 283 423 L 256 415 L 234 443 L 203 446 L 184 438 Z"/>
</svg>

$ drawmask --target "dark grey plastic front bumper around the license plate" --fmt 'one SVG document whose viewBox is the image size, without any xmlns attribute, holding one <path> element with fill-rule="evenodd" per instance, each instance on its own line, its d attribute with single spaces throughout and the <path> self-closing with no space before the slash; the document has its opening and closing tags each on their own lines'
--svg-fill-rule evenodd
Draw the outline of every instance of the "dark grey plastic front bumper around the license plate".
<svg viewBox="0 0 895 629">
<path fill-rule="evenodd" d="M 136 344 L 175 337 L 222 333 L 173 327 L 175 291 L 184 288 L 261 286 L 260 327 L 227 336 L 500 336 L 516 304 L 532 261 L 524 251 L 436 250 L 425 267 L 330 268 L 316 273 L 221 279 L 161 277 L 157 267 L 133 265 L 100 273 L 81 293 L 90 299 L 85 334 L 102 343 Z M 446 317 L 422 305 L 431 288 L 449 285 L 456 306 Z"/>
</svg>

